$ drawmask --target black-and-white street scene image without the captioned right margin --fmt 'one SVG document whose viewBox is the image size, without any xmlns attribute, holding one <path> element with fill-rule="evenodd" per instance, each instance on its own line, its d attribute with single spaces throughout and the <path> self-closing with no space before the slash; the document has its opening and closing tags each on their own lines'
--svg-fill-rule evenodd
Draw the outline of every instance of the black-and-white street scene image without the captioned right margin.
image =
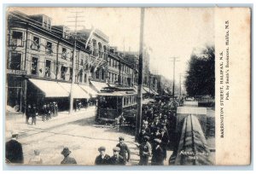
<svg viewBox="0 0 256 174">
<path fill-rule="evenodd" d="M 216 165 L 214 12 L 7 8 L 5 164 Z"/>
</svg>

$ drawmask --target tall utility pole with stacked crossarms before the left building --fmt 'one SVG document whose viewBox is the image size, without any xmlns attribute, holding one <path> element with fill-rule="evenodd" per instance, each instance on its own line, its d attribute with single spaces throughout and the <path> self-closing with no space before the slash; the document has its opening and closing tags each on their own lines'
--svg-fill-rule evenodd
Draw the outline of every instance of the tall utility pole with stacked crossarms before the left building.
<svg viewBox="0 0 256 174">
<path fill-rule="evenodd" d="M 78 30 L 78 22 L 82 22 L 84 20 L 79 20 L 78 14 L 81 14 L 83 12 L 71 12 L 74 13 L 75 16 L 70 16 L 69 18 L 73 18 L 73 21 L 67 21 L 67 22 L 74 22 L 74 34 L 73 34 L 73 39 L 74 39 L 74 46 L 73 46 L 73 69 L 72 69 L 72 82 L 71 82 L 71 88 L 70 88 L 70 101 L 69 101 L 69 114 L 73 113 L 73 85 L 75 82 L 75 62 L 76 62 L 76 48 L 77 48 L 77 30 Z"/>
</svg>

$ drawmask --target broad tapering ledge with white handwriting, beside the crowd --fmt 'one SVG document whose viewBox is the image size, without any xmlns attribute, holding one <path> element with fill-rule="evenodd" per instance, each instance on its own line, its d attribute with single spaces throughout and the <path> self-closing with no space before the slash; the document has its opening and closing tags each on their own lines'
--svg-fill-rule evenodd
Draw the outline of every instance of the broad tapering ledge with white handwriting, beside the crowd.
<svg viewBox="0 0 256 174">
<path fill-rule="evenodd" d="M 199 120 L 189 115 L 183 120 L 180 139 L 170 159 L 172 165 L 212 165 L 212 157 Z"/>
</svg>

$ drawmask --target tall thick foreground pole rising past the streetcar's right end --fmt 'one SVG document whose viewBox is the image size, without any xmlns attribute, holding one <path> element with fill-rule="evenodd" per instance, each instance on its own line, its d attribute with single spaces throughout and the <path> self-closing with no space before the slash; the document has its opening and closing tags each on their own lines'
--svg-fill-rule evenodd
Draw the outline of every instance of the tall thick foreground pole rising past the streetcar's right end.
<svg viewBox="0 0 256 174">
<path fill-rule="evenodd" d="M 136 140 L 142 126 L 142 107 L 143 107 L 143 31 L 144 31 L 144 8 L 141 8 L 141 28 L 140 28 L 140 52 L 139 52 L 139 71 L 137 86 L 137 117 L 136 117 Z"/>
</svg>

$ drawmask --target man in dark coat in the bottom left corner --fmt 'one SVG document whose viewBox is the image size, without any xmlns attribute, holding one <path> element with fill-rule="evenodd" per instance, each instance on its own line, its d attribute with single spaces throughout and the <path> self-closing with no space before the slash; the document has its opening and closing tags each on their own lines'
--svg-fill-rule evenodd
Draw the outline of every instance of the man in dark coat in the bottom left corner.
<svg viewBox="0 0 256 174">
<path fill-rule="evenodd" d="M 7 163 L 24 163 L 22 145 L 17 139 L 18 133 L 14 132 L 12 139 L 5 143 L 5 159 Z"/>
</svg>

